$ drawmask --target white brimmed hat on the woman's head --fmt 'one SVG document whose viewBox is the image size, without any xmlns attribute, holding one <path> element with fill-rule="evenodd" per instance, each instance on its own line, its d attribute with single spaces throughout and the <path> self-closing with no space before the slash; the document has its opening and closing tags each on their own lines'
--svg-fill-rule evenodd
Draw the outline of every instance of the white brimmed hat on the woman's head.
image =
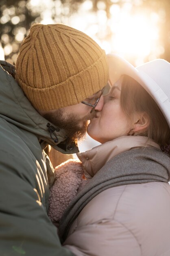
<svg viewBox="0 0 170 256">
<path fill-rule="evenodd" d="M 108 54 L 107 59 L 111 85 L 124 74 L 131 76 L 155 100 L 170 127 L 170 63 L 163 59 L 156 59 L 133 67 L 116 54 Z"/>
</svg>

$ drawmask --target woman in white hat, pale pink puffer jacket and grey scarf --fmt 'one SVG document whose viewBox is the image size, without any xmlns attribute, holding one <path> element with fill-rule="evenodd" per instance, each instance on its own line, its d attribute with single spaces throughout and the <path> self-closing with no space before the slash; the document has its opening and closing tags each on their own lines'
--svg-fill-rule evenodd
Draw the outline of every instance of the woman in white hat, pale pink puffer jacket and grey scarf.
<svg viewBox="0 0 170 256">
<path fill-rule="evenodd" d="M 61 239 L 77 256 L 169 256 L 170 63 L 108 62 L 111 90 L 87 128 L 101 145 L 78 154 L 88 182 Z"/>
</svg>

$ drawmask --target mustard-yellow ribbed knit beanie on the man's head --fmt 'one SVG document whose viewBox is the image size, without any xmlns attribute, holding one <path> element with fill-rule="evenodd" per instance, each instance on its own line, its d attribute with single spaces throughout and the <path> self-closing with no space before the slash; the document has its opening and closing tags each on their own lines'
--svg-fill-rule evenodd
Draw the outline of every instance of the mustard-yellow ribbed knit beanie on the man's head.
<svg viewBox="0 0 170 256">
<path fill-rule="evenodd" d="M 108 80 L 105 51 L 63 24 L 35 24 L 20 46 L 16 80 L 37 110 L 80 103 Z"/>
</svg>

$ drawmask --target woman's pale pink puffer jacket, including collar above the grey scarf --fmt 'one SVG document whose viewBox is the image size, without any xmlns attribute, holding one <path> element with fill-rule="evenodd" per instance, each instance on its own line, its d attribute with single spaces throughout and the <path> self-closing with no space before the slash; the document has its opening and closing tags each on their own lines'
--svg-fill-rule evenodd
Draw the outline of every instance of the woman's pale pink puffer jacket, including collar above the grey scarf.
<svg viewBox="0 0 170 256">
<path fill-rule="evenodd" d="M 85 175 L 92 177 L 103 165 L 99 159 L 107 162 L 125 150 L 144 145 L 139 137 L 133 145 L 131 140 L 125 142 L 122 146 L 121 139 L 115 145 L 113 141 L 110 150 L 107 145 L 105 157 L 104 144 L 96 153 L 88 152 L 88 157 L 81 153 L 79 158 L 87 164 Z M 159 148 L 153 141 L 148 146 Z M 97 168 L 91 168 L 94 163 Z M 77 256 L 170 256 L 169 238 L 170 186 L 148 182 L 117 186 L 98 194 L 73 222 L 63 245 Z"/>
</svg>

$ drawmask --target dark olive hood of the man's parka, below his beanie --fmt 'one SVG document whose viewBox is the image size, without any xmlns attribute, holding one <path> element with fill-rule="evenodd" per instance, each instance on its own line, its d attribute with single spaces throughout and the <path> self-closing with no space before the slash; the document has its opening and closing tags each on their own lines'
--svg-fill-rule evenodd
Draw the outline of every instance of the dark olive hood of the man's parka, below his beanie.
<svg viewBox="0 0 170 256">
<path fill-rule="evenodd" d="M 41 141 L 42 148 L 45 148 L 46 144 L 50 144 L 61 153 L 72 154 L 78 152 L 76 143 L 68 138 L 67 131 L 55 127 L 39 115 L 15 79 L 1 66 L 0 117 L 18 128 L 35 134 Z"/>
</svg>

